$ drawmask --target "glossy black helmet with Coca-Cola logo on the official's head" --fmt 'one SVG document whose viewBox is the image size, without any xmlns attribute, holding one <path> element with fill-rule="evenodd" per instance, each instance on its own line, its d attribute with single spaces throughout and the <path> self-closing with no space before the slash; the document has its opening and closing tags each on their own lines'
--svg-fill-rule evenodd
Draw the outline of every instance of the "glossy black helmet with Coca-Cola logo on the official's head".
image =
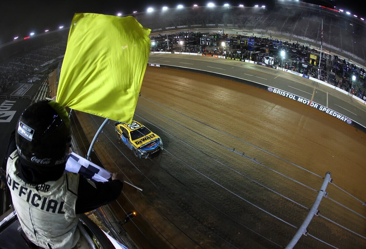
<svg viewBox="0 0 366 249">
<path fill-rule="evenodd" d="M 16 125 L 16 148 L 38 166 L 64 164 L 71 143 L 70 119 L 57 102 L 41 100 L 27 107 Z"/>
</svg>

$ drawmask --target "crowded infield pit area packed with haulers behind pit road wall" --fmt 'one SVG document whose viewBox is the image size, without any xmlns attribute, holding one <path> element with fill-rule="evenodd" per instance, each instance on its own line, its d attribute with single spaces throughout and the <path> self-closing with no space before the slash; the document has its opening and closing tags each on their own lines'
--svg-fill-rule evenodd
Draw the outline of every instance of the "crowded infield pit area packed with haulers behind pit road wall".
<svg viewBox="0 0 366 249">
<path fill-rule="evenodd" d="M 166 35 L 157 35 L 152 39 L 159 41 L 158 45 L 151 47 L 152 51 L 201 53 L 241 61 L 251 60 L 269 66 L 285 68 L 305 76 L 320 78 L 326 83 L 351 92 L 363 100 L 366 98 L 366 84 L 364 84 L 366 71 L 363 68 L 352 64 L 349 59 L 340 59 L 337 55 L 332 56 L 330 51 L 324 49 L 320 60 L 319 47 L 315 49 L 307 43 L 305 43 L 307 45 L 301 45 L 297 40 L 281 41 L 271 37 L 216 34 L 216 32 L 213 34 L 180 32 L 169 34 L 168 37 Z M 169 50 L 167 39 L 169 40 Z M 183 41 L 183 43 L 180 43 L 180 41 Z M 225 42 L 226 46 L 224 48 L 220 46 L 222 42 Z M 284 60 L 280 55 L 282 50 L 285 51 Z M 356 76 L 353 85 L 352 76 Z"/>
</svg>

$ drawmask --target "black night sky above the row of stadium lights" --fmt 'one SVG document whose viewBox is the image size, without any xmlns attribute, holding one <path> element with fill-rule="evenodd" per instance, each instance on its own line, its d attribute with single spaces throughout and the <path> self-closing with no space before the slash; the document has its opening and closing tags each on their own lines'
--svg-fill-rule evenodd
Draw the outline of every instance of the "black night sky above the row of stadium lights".
<svg viewBox="0 0 366 249">
<path fill-rule="evenodd" d="M 289 0 L 284 0 L 289 1 Z M 317 0 L 307 0 L 313 3 Z M 50 0 L 50 1 L 30 1 L 30 0 L 4 0 L 0 7 L 0 45 L 12 41 L 14 37 L 26 37 L 30 32 L 39 34 L 44 30 L 55 30 L 60 25 L 69 26 L 72 16 L 76 12 L 92 12 L 107 15 L 116 15 L 122 12 L 123 15 L 132 11 L 143 12 L 147 7 L 160 9 L 163 5 L 176 7 L 178 4 L 192 6 L 193 4 L 206 5 L 206 1 L 161 1 L 161 0 L 119 0 L 119 1 L 77 1 L 77 0 Z M 216 5 L 229 3 L 238 6 L 254 6 L 255 4 L 271 7 L 273 0 L 242 0 L 242 1 L 214 1 Z M 328 2 L 332 2 L 328 0 Z M 366 18 L 365 7 L 360 8 L 358 1 L 338 0 L 337 8 L 349 10 L 352 14 Z"/>
</svg>

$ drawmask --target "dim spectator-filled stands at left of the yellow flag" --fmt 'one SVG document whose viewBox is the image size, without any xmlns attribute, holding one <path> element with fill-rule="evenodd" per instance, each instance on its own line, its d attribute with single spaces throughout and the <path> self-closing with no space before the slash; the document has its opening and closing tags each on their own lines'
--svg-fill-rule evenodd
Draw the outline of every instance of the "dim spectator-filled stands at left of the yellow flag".
<svg viewBox="0 0 366 249">
<path fill-rule="evenodd" d="M 12 85 L 34 74 L 40 65 L 63 55 L 65 50 L 66 42 L 62 41 L 0 62 L 0 95 Z"/>
</svg>

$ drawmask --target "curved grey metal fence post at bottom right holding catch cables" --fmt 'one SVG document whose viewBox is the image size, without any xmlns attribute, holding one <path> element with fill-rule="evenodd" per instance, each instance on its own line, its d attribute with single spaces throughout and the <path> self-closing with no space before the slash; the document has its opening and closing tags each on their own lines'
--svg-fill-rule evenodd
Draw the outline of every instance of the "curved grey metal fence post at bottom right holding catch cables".
<svg viewBox="0 0 366 249">
<path fill-rule="evenodd" d="M 309 223 L 311 221 L 311 219 L 313 219 L 314 214 L 318 213 L 318 207 L 319 204 L 323 198 L 323 196 L 326 196 L 326 186 L 328 185 L 328 183 L 330 182 L 330 172 L 326 172 L 325 177 L 324 177 L 324 181 L 323 184 L 320 187 L 320 190 L 318 192 L 318 196 L 315 199 L 315 202 L 313 204 L 313 206 L 311 207 L 309 213 L 307 214 L 305 220 L 302 222 L 301 226 L 299 227 L 298 231 L 296 232 L 296 234 L 294 235 L 294 237 L 292 238 L 292 240 L 290 241 L 290 243 L 288 243 L 288 245 L 286 246 L 285 249 L 292 249 L 294 248 L 294 246 L 296 245 L 296 243 L 300 240 L 301 236 L 307 235 L 307 226 L 309 226 Z"/>
</svg>

